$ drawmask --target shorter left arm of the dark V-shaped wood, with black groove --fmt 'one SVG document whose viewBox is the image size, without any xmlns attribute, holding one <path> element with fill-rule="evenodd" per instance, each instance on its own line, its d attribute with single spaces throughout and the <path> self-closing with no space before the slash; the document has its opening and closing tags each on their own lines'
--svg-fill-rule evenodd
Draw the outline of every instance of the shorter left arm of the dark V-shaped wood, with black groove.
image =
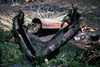
<svg viewBox="0 0 100 67">
<path fill-rule="evenodd" d="M 23 33 L 19 33 L 18 30 L 16 30 L 23 52 L 31 59 L 35 55 L 35 50 L 24 28 L 22 28 L 22 32 Z"/>
</svg>

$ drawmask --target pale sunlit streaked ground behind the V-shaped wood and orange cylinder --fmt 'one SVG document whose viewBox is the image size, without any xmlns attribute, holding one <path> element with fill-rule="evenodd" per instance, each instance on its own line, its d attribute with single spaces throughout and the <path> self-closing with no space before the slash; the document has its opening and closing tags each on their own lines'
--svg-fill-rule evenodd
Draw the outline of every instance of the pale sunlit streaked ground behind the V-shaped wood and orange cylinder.
<svg viewBox="0 0 100 67">
<path fill-rule="evenodd" d="M 32 10 L 23 11 L 25 13 L 25 25 L 28 23 L 30 24 L 32 22 L 32 19 L 34 18 L 42 18 L 46 21 L 61 21 L 65 15 L 67 15 L 67 12 L 58 12 L 58 11 L 52 11 L 52 12 L 45 12 L 45 11 L 39 11 L 33 12 Z M 10 31 L 12 29 L 12 19 L 17 15 L 17 12 L 0 12 L 0 28 L 4 30 Z"/>
</svg>

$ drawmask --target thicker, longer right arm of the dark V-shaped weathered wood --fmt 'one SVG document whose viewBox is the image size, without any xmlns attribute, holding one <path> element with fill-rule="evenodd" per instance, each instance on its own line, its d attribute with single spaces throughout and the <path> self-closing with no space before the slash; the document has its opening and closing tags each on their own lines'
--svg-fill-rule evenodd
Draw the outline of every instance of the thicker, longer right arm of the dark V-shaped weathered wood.
<svg viewBox="0 0 100 67">
<path fill-rule="evenodd" d="M 52 40 L 47 43 L 48 46 L 43 48 L 43 55 L 48 55 L 49 53 L 59 48 L 66 41 L 68 41 L 79 29 L 79 25 L 80 24 L 77 24 L 75 27 L 69 29 L 66 33 L 63 33 L 62 31 L 58 32 L 57 35 L 55 35 L 54 38 L 52 38 Z"/>
</svg>

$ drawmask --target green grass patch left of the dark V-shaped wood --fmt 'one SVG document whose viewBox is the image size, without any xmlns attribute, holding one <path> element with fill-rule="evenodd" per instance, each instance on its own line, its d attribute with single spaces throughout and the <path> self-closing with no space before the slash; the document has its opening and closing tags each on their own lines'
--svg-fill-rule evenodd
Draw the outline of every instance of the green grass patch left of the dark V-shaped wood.
<svg viewBox="0 0 100 67">
<path fill-rule="evenodd" d="M 11 35 L 11 32 L 0 29 L 0 64 L 17 63 L 25 59 L 19 44 L 5 42 Z"/>
</svg>

